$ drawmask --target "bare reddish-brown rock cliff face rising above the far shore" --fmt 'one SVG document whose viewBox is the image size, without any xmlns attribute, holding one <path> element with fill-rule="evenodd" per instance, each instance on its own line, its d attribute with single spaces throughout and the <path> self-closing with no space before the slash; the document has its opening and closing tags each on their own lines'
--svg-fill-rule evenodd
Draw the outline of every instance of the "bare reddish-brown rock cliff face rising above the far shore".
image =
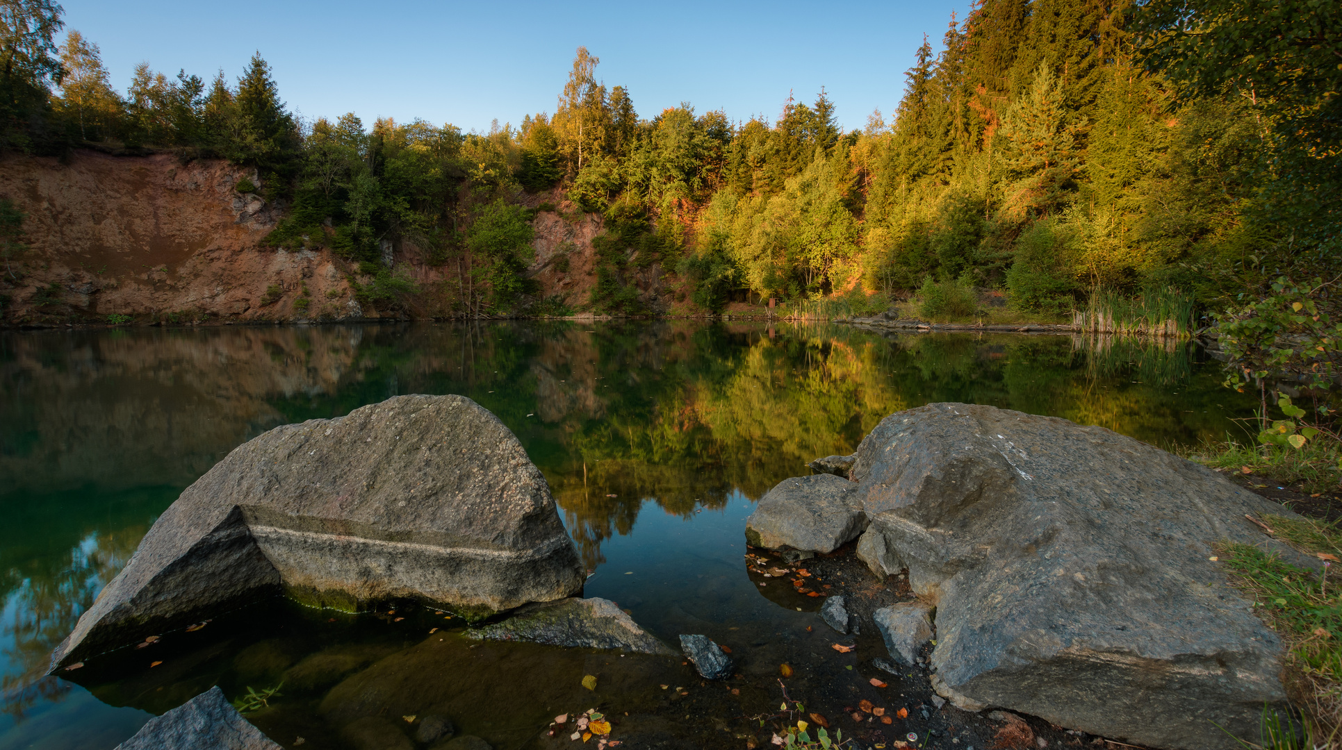
<svg viewBox="0 0 1342 750">
<path fill-rule="evenodd" d="M 419 288 L 393 305 L 361 301 L 372 279 L 325 248 L 268 247 L 285 205 L 236 188 L 255 170 L 173 154 L 114 157 L 91 150 L 67 160 L 0 157 L 0 199 L 25 213 L 25 250 L 0 268 L 0 325 L 81 322 L 220 323 L 451 317 L 462 268 L 431 266 L 408 242 L 392 242 L 396 274 Z M 246 182 L 243 184 L 246 186 Z M 535 259 L 527 275 L 541 297 L 578 307 L 595 282 L 592 237 L 600 215 L 554 195 L 521 196 L 537 215 Z M 556 263 L 564 258 L 565 263 Z M 566 267 L 565 267 L 566 266 Z M 637 284 L 650 299 L 659 270 Z M 683 298 L 683 295 L 680 295 Z"/>
</svg>

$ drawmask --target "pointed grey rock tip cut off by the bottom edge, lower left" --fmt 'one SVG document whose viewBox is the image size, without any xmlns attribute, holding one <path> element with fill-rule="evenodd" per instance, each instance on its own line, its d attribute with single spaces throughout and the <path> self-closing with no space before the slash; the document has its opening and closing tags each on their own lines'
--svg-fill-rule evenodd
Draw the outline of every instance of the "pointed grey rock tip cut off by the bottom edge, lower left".
<svg viewBox="0 0 1342 750">
<path fill-rule="evenodd" d="M 219 686 L 154 716 L 115 750 L 280 750 L 234 708 Z"/>
</svg>

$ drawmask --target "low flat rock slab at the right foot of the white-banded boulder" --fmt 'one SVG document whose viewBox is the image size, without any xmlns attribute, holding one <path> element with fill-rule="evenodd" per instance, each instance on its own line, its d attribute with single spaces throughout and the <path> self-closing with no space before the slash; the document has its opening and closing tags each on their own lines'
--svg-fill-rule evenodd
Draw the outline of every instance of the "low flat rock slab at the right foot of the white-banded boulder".
<svg viewBox="0 0 1342 750">
<path fill-rule="evenodd" d="M 675 655 L 605 598 L 565 598 L 521 608 L 513 617 L 466 633 L 476 640 L 519 640 L 629 653 Z"/>
</svg>

